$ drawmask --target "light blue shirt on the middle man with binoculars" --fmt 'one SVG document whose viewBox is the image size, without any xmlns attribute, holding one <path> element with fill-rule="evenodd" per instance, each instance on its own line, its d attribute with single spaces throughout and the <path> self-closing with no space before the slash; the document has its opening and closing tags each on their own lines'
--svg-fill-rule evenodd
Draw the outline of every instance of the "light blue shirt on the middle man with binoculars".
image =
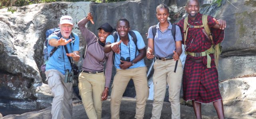
<svg viewBox="0 0 256 119">
<path fill-rule="evenodd" d="M 141 50 L 143 48 L 146 47 L 145 43 L 144 43 L 144 40 L 142 38 L 142 36 L 140 35 L 140 33 L 138 31 L 133 31 L 135 33 L 135 35 L 137 36 L 137 46 L 138 46 L 138 50 Z M 118 33 L 117 33 L 118 35 Z M 132 40 L 132 36 L 130 36 L 130 34 L 128 34 L 129 36 L 129 43 L 128 45 L 126 46 L 123 42 L 119 45 L 119 47 L 121 46 L 121 55 L 123 58 L 127 58 L 127 57 L 130 57 L 130 61 L 134 60 L 135 58 L 135 51 L 136 51 L 136 46 Z M 118 36 L 116 42 L 119 42 L 120 41 L 120 38 Z M 106 43 L 107 42 L 110 42 L 110 43 L 113 43 L 114 42 L 114 36 L 112 35 L 109 35 L 107 38 L 106 38 Z M 130 55 L 129 55 L 129 46 L 130 46 Z M 137 56 L 140 54 L 137 50 Z M 114 65 L 117 69 L 120 69 L 120 54 L 117 54 L 115 53 L 115 59 L 114 59 Z M 144 59 L 141 59 L 140 61 L 138 61 L 137 63 L 135 63 L 133 66 L 130 66 L 128 69 L 132 69 L 132 68 L 137 68 L 137 67 L 146 67 L 145 63 L 144 63 Z"/>
</svg>

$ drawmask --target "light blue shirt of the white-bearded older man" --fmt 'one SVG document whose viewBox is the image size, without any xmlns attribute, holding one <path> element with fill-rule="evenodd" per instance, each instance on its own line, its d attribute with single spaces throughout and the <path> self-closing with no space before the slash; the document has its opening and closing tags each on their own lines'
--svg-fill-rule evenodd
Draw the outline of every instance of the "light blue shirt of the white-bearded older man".
<svg viewBox="0 0 256 119">
<path fill-rule="evenodd" d="M 74 51 L 79 51 L 79 36 L 76 33 L 73 33 L 73 34 L 75 36 L 74 44 L 71 43 L 72 41 L 67 44 L 67 50 L 69 53 L 74 52 Z M 53 39 L 53 38 L 59 39 L 58 36 L 53 33 L 49 36 L 48 43 L 49 43 L 49 40 Z M 70 38 L 71 38 L 71 36 L 70 36 Z M 69 40 L 69 39 L 66 39 L 66 40 Z M 70 44 L 71 44 L 71 47 L 70 47 Z M 48 49 L 47 49 L 48 53 L 50 53 L 53 48 L 54 48 L 53 46 L 48 44 Z M 64 68 L 64 65 L 65 65 L 65 68 Z M 69 69 L 69 71 L 71 70 L 71 64 L 66 55 L 64 46 L 58 46 L 58 49 L 48 59 L 45 70 L 47 71 L 49 69 L 56 69 L 56 70 L 60 71 L 63 75 L 65 75 L 65 69 Z"/>
</svg>

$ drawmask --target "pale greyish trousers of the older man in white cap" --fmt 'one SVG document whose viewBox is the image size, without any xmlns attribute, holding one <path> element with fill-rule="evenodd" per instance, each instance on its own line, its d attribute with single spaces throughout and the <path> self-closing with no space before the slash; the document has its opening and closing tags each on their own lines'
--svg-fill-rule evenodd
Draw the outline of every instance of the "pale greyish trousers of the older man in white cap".
<svg viewBox="0 0 256 119">
<path fill-rule="evenodd" d="M 55 69 L 45 71 L 45 75 L 53 93 L 52 119 L 71 119 L 73 83 L 64 83 L 65 76 Z"/>
</svg>

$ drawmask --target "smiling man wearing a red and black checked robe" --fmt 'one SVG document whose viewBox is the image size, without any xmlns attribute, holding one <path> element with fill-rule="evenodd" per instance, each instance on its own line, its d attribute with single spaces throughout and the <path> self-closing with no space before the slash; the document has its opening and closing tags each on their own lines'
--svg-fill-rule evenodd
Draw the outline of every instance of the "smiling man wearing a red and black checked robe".
<svg viewBox="0 0 256 119">
<path fill-rule="evenodd" d="M 193 26 L 203 25 L 202 16 L 199 13 L 198 0 L 188 0 L 185 10 L 188 15 L 188 23 Z M 226 21 L 208 16 L 208 25 L 213 34 L 213 44 L 218 44 L 224 39 L 224 28 Z M 184 34 L 184 19 L 180 20 L 177 25 Z M 185 52 L 199 53 L 211 48 L 212 41 L 202 28 L 189 28 L 187 40 L 185 41 Z M 185 29 L 186 30 L 186 29 Z M 211 67 L 207 68 L 207 56 L 195 57 L 187 55 L 184 72 L 183 72 L 183 99 L 192 100 L 195 115 L 201 119 L 201 103 L 213 102 L 218 117 L 224 119 L 223 102 L 219 91 L 218 72 L 215 67 L 214 55 L 211 56 Z"/>
</svg>

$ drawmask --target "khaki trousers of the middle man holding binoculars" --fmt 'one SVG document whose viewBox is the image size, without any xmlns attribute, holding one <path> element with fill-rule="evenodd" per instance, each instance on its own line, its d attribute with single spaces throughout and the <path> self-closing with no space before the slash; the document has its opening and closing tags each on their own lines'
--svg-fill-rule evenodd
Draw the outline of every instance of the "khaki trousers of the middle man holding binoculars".
<svg viewBox="0 0 256 119">
<path fill-rule="evenodd" d="M 136 115 L 134 118 L 143 119 L 146 100 L 148 98 L 147 67 L 133 69 L 116 69 L 116 75 L 112 84 L 110 110 L 111 119 L 119 119 L 122 95 L 130 79 L 133 80 L 136 91 Z"/>
</svg>

